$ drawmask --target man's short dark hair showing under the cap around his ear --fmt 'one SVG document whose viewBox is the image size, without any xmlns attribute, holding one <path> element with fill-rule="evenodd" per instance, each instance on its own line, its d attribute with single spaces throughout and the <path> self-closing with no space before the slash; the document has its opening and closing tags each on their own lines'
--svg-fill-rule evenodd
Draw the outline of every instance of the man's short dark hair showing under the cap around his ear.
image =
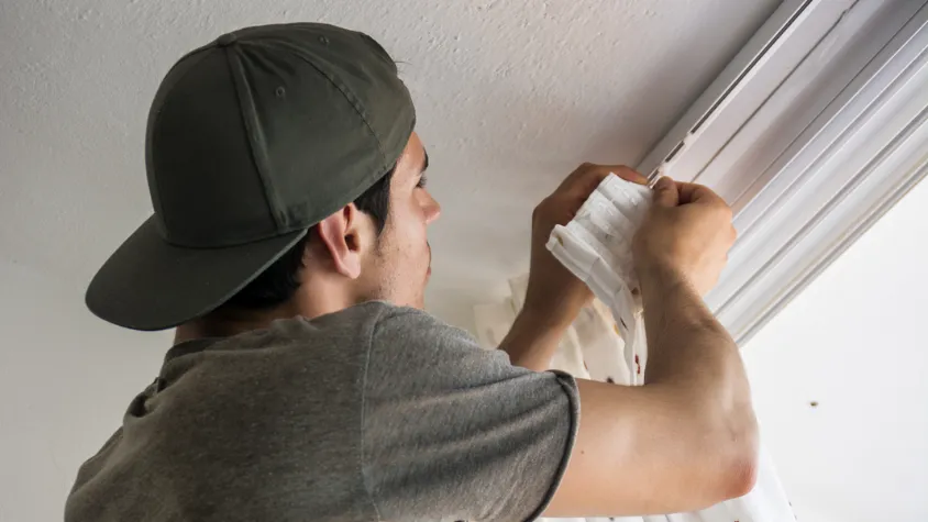
<svg viewBox="0 0 928 522">
<path fill-rule="evenodd" d="M 395 169 L 396 166 L 354 200 L 358 210 L 374 219 L 377 225 L 377 234 L 383 232 L 387 224 L 390 178 L 393 178 Z M 314 229 L 316 225 L 310 227 L 306 235 L 290 249 L 222 306 L 243 310 L 263 310 L 274 308 L 294 297 L 294 293 L 300 287 L 299 271 L 303 267 L 302 256 L 306 243 L 314 233 Z"/>
</svg>

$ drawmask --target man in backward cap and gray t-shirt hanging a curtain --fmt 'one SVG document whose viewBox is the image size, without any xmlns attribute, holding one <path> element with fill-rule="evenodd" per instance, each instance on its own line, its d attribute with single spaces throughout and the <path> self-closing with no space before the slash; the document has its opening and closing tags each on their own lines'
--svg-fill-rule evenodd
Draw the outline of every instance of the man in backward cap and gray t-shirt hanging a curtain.
<svg viewBox="0 0 928 522">
<path fill-rule="evenodd" d="M 538 206 L 524 310 L 483 351 L 421 311 L 439 204 L 415 121 L 389 55 L 329 25 L 241 30 L 175 65 L 148 120 L 155 215 L 87 303 L 176 326 L 176 345 L 81 467 L 67 520 L 515 521 L 752 487 L 747 379 L 700 298 L 733 242 L 727 206 L 655 186 L 634 252 L 644 386 L 543 371 L 592 299 L 545 251 L 551 229 L 609 171 L 644 179 L 583 165 Z"/>
</svg>

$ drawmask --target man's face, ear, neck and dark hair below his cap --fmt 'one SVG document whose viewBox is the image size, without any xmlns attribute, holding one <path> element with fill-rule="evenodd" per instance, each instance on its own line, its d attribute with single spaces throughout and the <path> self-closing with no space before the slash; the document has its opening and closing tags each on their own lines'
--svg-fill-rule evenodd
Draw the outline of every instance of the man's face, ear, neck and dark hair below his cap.
<svg viewBox="0 0 928 522">
<path fill-rule="evenodd" d="M 389 173 L 313 225 L 220 311 L 332 311 L 369 300 L 422 308 L 431 273 L 426 227 L 440 213 L 426 189 L 428 166 L 413 133 Z"/>
</svg>

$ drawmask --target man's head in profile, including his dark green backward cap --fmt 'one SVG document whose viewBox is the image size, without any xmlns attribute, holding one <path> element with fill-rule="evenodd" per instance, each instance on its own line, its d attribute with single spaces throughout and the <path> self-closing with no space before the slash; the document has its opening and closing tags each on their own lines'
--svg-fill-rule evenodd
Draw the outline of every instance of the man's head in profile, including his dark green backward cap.
<svg viewBox="0 0 928 522">
<path fill-rule="evenodd" d="M 155 213 L 88 308 L 136 330 L 237 324 L 217 332 L 368 300 L 421 308 L 439 207 L 415 125 L 396 63 L 362 33 L 254 26 L 188 53 L 148 114 Z"/>
</svg>

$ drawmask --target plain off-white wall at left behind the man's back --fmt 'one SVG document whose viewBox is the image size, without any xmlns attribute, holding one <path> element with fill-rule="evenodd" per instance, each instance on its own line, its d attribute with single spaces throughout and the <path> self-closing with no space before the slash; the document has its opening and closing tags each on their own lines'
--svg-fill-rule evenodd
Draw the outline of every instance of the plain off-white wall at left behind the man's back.
<svg viewBox="0 0 928 522">
<path fill-rule="evenodd" d="M 90 315 L 80 292 L 0 264 L 0 521 L 60 520 L 84 459 L 157 375 L 166 333 Z"/>
</svg>

